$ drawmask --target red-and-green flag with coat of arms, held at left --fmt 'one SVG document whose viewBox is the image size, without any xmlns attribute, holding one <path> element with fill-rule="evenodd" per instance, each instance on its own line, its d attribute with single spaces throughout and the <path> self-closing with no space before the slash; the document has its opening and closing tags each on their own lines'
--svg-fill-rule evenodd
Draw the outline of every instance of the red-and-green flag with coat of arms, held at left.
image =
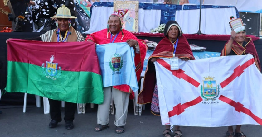
<svg viewBox="0 0 262 137">
<path fill-rule="evenodd" d="M 5 90 L 73 103 L 103 103 L 94 43 L 8 40 Z"/>
</svg>

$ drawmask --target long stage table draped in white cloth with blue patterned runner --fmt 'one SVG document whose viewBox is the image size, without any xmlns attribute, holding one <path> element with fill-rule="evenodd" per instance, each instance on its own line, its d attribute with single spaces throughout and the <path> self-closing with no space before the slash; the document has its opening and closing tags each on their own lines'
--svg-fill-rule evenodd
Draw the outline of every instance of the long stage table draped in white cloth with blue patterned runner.
<svg viewBox="0 0 262 137">
<path fill-rule="evenodd" d="M 95 2 L 91 7 L 90 29 L 93 33 L 107 28 L 107 21 L 113 13 L 113 2 Z M 199 30 L 200 5 L 169 5 L 160 3 L 139 3 L 138 32 L 150 32 L 167 21 L 175 20 L 182 32 L 194 34 Z M 230 34 L 230 17 L 239 17 L 234 6 L 202 5 L 201 32 L 203 34 Z"/>
</svg>

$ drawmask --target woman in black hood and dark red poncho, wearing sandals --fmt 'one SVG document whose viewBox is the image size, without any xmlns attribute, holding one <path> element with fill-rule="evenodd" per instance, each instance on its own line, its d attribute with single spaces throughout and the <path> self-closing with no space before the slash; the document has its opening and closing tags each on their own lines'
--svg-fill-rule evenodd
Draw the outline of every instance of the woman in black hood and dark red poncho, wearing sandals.
<svg viewBox="0 0 262 137">
<path fill-rule="evenodd" d="M 182 60 L 194 60 L 194 56 L 187 42 L 182 35 L 180 26 L 176 21 L 168 21 L 164 29 L 164 38 L 158 43 L 153 54 L 149 57 L 148 66 L 144 77 L 143 90 L 138 95 L 138 103 L 145 104 L 151 102 L 151 112 L 160 115 L 158 103 L 158 88 L 156 84 L 156 73 L 153 62 L 159 57 L 172 58 L 173 54 Z M 170 125 L 166 125 L 163 132 L 164 137 L 171 137 Z M 175 127 L 175 136 L 181 137 L 180 126 Z"/>
</svg>

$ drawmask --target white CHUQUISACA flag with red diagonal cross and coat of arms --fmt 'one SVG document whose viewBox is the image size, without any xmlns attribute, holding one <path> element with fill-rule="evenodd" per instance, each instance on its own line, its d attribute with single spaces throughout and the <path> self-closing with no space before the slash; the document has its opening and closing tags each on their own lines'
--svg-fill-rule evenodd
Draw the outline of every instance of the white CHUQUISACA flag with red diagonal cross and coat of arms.
<svg viewBox="0 0 262 137">
<path fill-rule="evenodd" d="M 262 74 L 252 55 L 155 62 L 162 124 L 262 125 Z"/>
</svg>

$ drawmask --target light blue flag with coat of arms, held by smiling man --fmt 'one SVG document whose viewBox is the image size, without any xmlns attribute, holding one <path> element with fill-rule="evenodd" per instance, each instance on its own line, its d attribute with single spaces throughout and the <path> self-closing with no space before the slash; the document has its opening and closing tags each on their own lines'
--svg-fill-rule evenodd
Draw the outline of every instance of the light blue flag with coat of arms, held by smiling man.
<svg viewBox="0 0 262 137">
<path fill-rule="evenodd" d="M 129 85 L 135 92 L 138 83 L 134 65 L 134 49 L 126 42 L 96 45 L 104 87 Z"/>
</svg>

